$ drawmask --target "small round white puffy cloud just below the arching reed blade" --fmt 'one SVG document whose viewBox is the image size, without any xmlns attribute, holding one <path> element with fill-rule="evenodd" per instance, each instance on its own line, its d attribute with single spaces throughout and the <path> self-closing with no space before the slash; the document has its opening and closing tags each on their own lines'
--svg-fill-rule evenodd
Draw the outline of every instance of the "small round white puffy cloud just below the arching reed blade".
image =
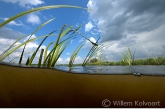
<svg viewBox="0 0 165 109">
<path fill-rule="evenodd" d="M 34 24 L 40 24 L 40 18 L 38 17 L 37 14 L 31 13 L 27 16 L 27 22 Z"/>
</svg>

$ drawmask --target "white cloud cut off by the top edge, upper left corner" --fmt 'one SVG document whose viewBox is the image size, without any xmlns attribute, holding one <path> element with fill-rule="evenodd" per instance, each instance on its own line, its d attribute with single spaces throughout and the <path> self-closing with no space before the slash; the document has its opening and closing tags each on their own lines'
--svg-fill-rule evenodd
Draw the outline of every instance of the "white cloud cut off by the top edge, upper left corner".
<svg viewBox="0 0 165 109">
<path fill-rule="evenodd" d="M 18 3 L 19 6 L 21 7 L 26 7 L 27 5 L 37 6 L 44 3 L 43 0 L 1 0 L 1 1 L 7 2 L 7 3 L 13 3 L 13 4 Z"/>
</svg>

